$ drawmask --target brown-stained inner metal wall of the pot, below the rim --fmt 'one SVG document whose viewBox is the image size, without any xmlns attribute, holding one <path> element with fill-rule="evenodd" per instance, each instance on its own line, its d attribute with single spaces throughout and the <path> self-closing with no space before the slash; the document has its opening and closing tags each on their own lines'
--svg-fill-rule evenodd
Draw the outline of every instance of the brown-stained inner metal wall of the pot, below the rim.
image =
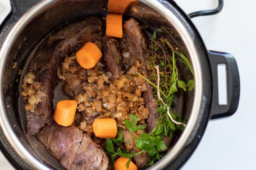
<svg viewBox="0 0 256 170">
<path fill-rule="evenodd" d="M 23 125 L 25 125 L 26 119 L 20 96 L 22 91 L 20 84 L 31 60 L 32 51 L 52 31 L 67 22 L 82 17 L 106 16 L 106 5 L 106 0 L 45 1 L 41 10 L 34 10 L 33 8 L 29 11 L 29 14 L 27 14 L 27 17 L 29 17 L 27 20 L 28 24 L 18 28 L 17 37 L 14 43 L 10 44 L 11 51 L 8 53 L 8 56 L 5 56 L 5 64 L 2 69 L 5 114 L 18 140 L 38 160 L 33 166 L 42 162 L 48 168 L 64 169 L 58 161 L 48 154 L 36 137 L 27 137 L 24 133 Z M 142 3 L 139 5 L 147 6 Z M 146 9 L 153 10 L 149 6 Z M 146 10 L 142 13 L 136 11 L 138 11 L 136 7 L 129 8 L 124 15 L 124 19 L 134 17 L 141 25 L 147 25 L 148 32 L 144 33 L 148 38 L 152 36 L 150 30 L 154 28 L 160 28 L 161 26 L 172 27 L 172 24 L 161 14 L 156 13 L 157 15 L 151 16 L 147 14 L 148 11 Z M 193 65 L 195 64 L 193 63 Z M 19 74 L 19 70 L 22 70 L 22 75 Z M 188 76 L 186 69 L 180 68 L 179 71 L 181 73 L 181 79 L 188 81 L 191 78 Z M 183 115 L 189 122 L 194 103 L 194 94 L 184 93 L 179 90 L 175 97 L 175 102 L 178 104 L 178 107 L 174 109 L 174 112 Z M 181 135 L 182 132 L 175 134 L 174 140 L 172 140 L 172 146 L 168 152 L 172 152 L 172 149 L 176 147 L 175 142 Z M 23 155 L 22 158 L 26 160 L 26 156 Z M 168 154 L 162 159 L 172 160 Z M 161 164 L 161 161 L 158 161 L 158 164 Z"/>
</svg>

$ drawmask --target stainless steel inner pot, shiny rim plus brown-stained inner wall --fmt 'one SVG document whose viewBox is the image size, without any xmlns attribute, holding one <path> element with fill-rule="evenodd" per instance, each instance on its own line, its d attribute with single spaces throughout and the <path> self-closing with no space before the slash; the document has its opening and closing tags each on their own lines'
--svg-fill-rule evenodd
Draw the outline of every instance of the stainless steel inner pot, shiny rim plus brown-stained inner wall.
<svg viewBox="0 0 256 170">
<path fill-rule="evenodd" d="M 188 118 L 187 127 L 168 153 L 148 168 L 163 169 L 173 162 L 182 150 L 193 142 L 194 138 L 200 138 L 200 136 L 196 136 L 199 128 L 203 127 L 201 134 L 203 133 L 209 116 L 204 115 L 204 113 L 209 111 L 212 82 L 208 60 L 204 59 L 204 57 L 207 57 L 207 52 L 203 44 L 196 43 L 199 40 L 192 34 L 195 30 L 186 22 L 186 19 L 179 15 L 175 8 L 170 8 L 171 5 L 167 1 L 140 0 L 140 3 L 156 10 L 159 15 L 150 16 L 150 19 L 146 15 L 134 17 L 148 26 L 160 27 L 165 25 L 174 28 L 186 45 L 194 68 L 194 92 L 192 95 L 185 94 L 186 98 L 190 100 L 182 103 L 183 106 L 186 106 L 182 110 L 182 114 Z M 7 142 L 10 143 L 14 152 L 24 161 L 25 167 L 33 169 L 63 169 L 55 159 L 47 154 L 44 147 L 36 141 L 36 138 L 28 139 L 24 135 L 23 122 L 20 122 L 22 120 L 20 119 L 22 106 L 18 106 L 18 95 L 16 93 L 19 89 L 20 81 L 18 70 L 24 71 L 31 51 L 54 29 L 77 18 L 106 16 L 106 4 L 106 0 L 42 0 L 30 8 L 16 22 L 2 44 L 0 51 L 0 89 L 2 91 L 0 98 L 0 124 Z M 129 17 L 132 14 L 126 12 L 125 15 Z M 18 63 L 17 66 L 14 65 L 15 62 Z M 202 70 L 203 67 L 204 71 Z M 200 127 L 201 124 L 204 125 Z M 36 150 L 34 149 L 35 147 L 37 147 Z M 191 150 L 194 150 L 194 148 Z M 185 161 L 186 158 L 182 159 L 182 161 Z"/>
</svg>

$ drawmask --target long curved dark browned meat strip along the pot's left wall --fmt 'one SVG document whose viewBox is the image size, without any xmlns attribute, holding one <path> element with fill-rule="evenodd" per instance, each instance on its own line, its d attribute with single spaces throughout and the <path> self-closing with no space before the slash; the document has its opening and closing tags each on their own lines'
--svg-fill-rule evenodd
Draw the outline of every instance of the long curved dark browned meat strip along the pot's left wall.
<svg viewBox="0 0 256 170">
<path fill-rule="evenodd" d="M 52 113 L 53 91 L 57 80 L 57 69 L 65 55 L 88 41 L 99 40 L 102 36 L 102 21 L 99 18 L 86 18 L 59 28 L 38 49 L 31 61 L 28 72 L 35 75 L 35 82 L 41 83 L 40 91 L 46 97 L 38 103 L 34 112 L 26 111 L 26 132 L 37 134 L 50 123 Z M 27 97 L 23 97 L 24 106 Z"/>
</svg>

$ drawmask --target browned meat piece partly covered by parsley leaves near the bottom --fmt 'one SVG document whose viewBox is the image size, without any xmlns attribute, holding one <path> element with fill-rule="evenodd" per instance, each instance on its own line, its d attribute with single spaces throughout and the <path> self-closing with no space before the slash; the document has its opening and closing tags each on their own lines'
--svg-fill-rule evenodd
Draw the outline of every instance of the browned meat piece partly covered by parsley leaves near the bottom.
<svg viewBox="0 0 256 170">
<path fill-rule="evenodd" d="M 122 130 L 122 135 L 123 135 L 123 139 L 127 140 L 124 142 L 124 147 L 126 150 L 128 150 L 131 153 L 140 152 L 140 149 L 136 148 L 135 141 L 130 140 L 132 139 L 132 134 L 130 131 Z M 132 159 L 136 164 L 136 166 L 138 166 L 138 168 L 143 168 L 150 161 L 150 156 L 148 156 L 146 152 L 142 152 L 141 154 L 134 156 Z"/>
</svg>

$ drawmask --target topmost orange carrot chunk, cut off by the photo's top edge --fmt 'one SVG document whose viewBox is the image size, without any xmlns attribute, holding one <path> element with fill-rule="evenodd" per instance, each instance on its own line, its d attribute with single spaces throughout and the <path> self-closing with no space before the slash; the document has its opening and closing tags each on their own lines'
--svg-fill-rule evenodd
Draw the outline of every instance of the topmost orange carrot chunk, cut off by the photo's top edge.
<svg viewBox="0 0 256 170">
<path fill-rule="evenodd" d="M 126 8 L 133 3 L 138 4 L 138 0 L 108 0 L 108 12 L 124 14 Z"/>
</svg>

